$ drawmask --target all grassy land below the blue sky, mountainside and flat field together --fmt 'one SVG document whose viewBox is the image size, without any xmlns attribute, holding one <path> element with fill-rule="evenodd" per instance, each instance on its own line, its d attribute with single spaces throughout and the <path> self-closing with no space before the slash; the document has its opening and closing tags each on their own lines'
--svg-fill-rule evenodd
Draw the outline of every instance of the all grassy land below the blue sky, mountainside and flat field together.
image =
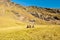
<svg viewBox="0 0 60 40">
<path fill-rule="evenodd" d="M 31 20 L 34 28 L 27 28 Z M 0 40 L 60 40 L 60 9 L 0 0 Z"/>
</svg>

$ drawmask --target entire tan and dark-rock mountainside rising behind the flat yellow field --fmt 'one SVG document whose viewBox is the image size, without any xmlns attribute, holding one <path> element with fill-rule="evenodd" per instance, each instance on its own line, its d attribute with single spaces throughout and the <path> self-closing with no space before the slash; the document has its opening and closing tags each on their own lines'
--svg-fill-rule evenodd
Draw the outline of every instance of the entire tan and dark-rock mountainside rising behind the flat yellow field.
<svg viewBox="0 0 60 40">
<path fill-rule="evenodd" d="M 0 26 L 17 26 L 35 20 L 35 24 L 60 24 L 60 9 L 24 7 L 10 0 L 0 1 Z"/>
</svg>

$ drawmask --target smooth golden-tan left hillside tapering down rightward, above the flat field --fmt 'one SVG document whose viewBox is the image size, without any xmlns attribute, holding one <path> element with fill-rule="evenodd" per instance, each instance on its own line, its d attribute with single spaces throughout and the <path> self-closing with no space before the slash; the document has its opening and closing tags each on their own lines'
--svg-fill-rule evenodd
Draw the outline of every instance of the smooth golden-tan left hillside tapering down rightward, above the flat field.
<svg viewBox="0 0 60 40">
<path fill-rule="evenodd" d="M 13 2 L 0 3 L 0 27 L 19 26 L 19 24 L 29 23 L 31 19 L 35 20 L 36 24 L 46 24 L 45 21 L 29 14 L 24 8 Z"/>
</svg>

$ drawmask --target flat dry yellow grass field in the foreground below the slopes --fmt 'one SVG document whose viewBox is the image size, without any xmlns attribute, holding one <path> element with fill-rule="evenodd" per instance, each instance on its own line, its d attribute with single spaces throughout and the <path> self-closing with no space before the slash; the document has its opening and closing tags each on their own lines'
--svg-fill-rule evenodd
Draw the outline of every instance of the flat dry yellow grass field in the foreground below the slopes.
<svg viewBox="0 0 60 40">
<path fill-rule="evenodd" d="M 5 30 L 0 28 L 0 40 L 60 40 L 60 25 L 41 25 L 35 28 L 20 26 Z"/>
</svg>

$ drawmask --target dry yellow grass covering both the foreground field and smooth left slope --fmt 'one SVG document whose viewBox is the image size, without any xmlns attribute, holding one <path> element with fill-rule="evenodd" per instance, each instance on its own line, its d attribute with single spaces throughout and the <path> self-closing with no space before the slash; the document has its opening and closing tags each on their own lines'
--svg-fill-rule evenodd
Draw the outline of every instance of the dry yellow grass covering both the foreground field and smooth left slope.
<svg viewBox="0 0 60 40">
<path fill-rule="evenodd" d="M 36 11 L 36 9 L 31 11 Z M 48 14 L 45 11 L 44 13 Z M 25 17 L 23 21 L 19 20 L 20 17 L 17 14 Z M 48 15 L 60 17 L 58 14 L 49 13 Z M 26 21 L 30 19 L 35 19 L 36 24 L 47 25 L 35 25 L 34 28 L 26 28 L 28 24 Z M 0 4 L 0 40 L 60 40 L 60 25 L 48 25 L 51 23 L 29 14 L 23 7 L 14 3 Z"/>
</svg>

